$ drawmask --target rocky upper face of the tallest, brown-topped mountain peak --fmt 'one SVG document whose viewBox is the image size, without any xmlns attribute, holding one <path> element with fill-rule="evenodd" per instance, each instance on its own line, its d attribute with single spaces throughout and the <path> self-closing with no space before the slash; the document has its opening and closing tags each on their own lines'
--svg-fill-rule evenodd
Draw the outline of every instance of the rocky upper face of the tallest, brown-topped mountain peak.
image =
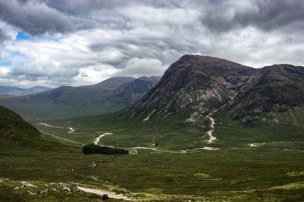
<svg viewBox="0 0 304 202">
<path fill-rule="evenodd" d="M 164 73 L 160 82 L 138 103 L 137 108 L 191 108 L 204 113 L 208 107 L 226 103 L 257 69 L 209 56 L 182 56 Z M 212 103 L 211 103 L 212 102 Z"/>
</svg>

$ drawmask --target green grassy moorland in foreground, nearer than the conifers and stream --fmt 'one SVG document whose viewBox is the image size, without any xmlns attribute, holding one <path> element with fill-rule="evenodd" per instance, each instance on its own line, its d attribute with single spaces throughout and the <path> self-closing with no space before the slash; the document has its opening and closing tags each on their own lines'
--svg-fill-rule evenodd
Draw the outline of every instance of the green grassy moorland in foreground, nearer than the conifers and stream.
<svg viewBox="0 0 304 202">
<path fill-rule="evenodd" d="M 140 201 L 293 201 L 304 192 L 304 157 L 295 151 L 258 148 L 176 154 L 140 150 L 134 155 L 108 156 L 84 155 L 81 146 L 63 142 L 45 151 L 16 148 L 0 150 L 0 155 L 2 178 L 83 183 L 119 193 L 126 189 L 128 197 Z M 5 195 L 16 197 L 2 189 Z M 20 201 L 44 201 L 27 195 L 21 200 L 24 194 L 28 193 L 19 193 Z M 81 201 L 89 196 L 56 197 L 57 201 Z"/>
</svg>

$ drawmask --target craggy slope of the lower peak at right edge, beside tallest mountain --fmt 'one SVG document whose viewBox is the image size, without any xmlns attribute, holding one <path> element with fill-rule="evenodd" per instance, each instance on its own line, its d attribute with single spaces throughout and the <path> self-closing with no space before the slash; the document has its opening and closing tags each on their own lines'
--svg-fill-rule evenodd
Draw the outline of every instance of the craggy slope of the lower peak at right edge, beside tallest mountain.
<svg viewBox="0 0 304 202">
<path fill-rule="evenodd" d="M 239 106 L 233 120 L 262 112 L 285 112 L 304 104 L 303 90 L 303 67 L 287 64 L 266 66 L 224 109 Z"/>
</svg>

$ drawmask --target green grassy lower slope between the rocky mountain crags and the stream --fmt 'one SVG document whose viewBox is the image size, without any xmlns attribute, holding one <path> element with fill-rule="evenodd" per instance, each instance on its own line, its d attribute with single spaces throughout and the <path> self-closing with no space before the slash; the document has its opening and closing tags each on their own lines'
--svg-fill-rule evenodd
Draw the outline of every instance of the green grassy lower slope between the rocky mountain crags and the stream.
<svg viewBox="0 0 304 202">
<path fill-rule="evenodd" d="M 157 142 L 159 143 L 157 147 L 162 149 L 186 150 L 203 146 L 229 148 L 248 147 L 250 143 L 304 142 L 302 133 L 304 128 L 301 124 L 304 121 L 302 117 L 304 106 L 298 106 L 286 112 L 261 112 L 254 117 L 232 120 L 236 110 L 222 111 L 212 115 L 215 119 L 215 129 L 212 134 L 217 140 L 211 144 L 207 142 L 209 140 L 207 131 L 212 129 L 209 118 L 203 117 L 195 123 L 184 123 L 188 119 L 187 113 L 167 112 L 168 114 L 163 116 L 152 111 L 136 111 L 135 113 L 131 108 L 127 108 L 105 115 L 58 120 L 39 119 L 38 121 L 61 127 L 75 127 L 74 130 L 78 132 L 86 132 L 88 135 L 63 136 L 84 143 L 92 142 L 98 131 L 114 133 L 115 135 L 102 138 L 103 144 L 112 146 L 153 147 L 152 144 Z M 144 121 L 148 116 L 149 119 Z M 36 121 L 33 120 L 32 123 Z M 41 131 L 51 130 L 58 135 L 61 133 L 59 129 L 46 128 L 41 124 L 35 126 Z M 302 146 L 304 150 L 302 143 L 295 144 Z M 292 147 L 287 146 L 282 149 L 292 149 Z"/>
</svg>

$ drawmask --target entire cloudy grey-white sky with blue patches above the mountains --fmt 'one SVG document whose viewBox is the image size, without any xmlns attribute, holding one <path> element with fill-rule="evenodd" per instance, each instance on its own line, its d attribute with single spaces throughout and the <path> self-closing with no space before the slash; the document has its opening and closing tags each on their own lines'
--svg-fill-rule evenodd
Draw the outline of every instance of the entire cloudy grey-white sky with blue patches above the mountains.
<svg viewBox="0 0 304 202">
<path fill-rule="evenodd" d="M 185 54 L 304 66 L 302 0 L 0 0 L 0 86 L 162 76 Z"/>
</svg>

